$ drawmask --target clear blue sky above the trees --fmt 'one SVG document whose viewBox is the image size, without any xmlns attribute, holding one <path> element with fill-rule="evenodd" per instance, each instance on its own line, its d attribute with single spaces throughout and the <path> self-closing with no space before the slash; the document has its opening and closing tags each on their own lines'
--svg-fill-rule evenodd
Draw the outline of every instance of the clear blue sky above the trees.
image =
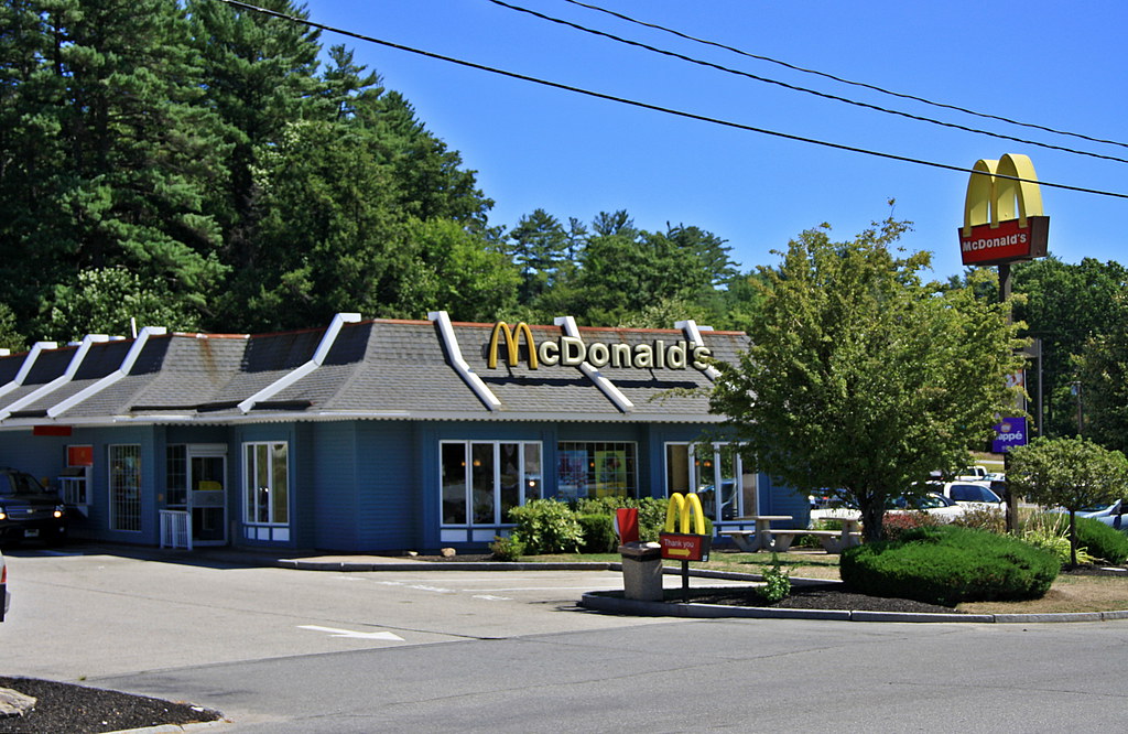
<svg viewBox="0 0 1128 734">
<path fill-rule="evenodd" d="M 1128 159 L 1128 147 L 985 120 L 792 71 L 633 25 L 565 0 L 513 5 L 695 59 L 867 104 Z M 592 0 L 638 20 L 986 114 L 1128 142 L 1128 3 L 1034 0 Z M 397 44 L 742 125 L 970 168 L 1031 157 L 1043 182 L 1128 194 L 1128 164 L 1039 148 L 814 97 L 591 36 L 488 0 L 310 0 L 310 19 Z M 686 120 L 546 88 L 324 33 L 400 91 L 458 150 L 512 227 L 543 208 L 590 222 L 626 209 L 635 225 L 696 225 L 742 269 L 826 221 L 847 239 L 890 212 L 902 243 L 962 272 L 957 228 L 968 175 Z M 1128 199 L 1042 189 L 1050 253 L 1128 262 Z"/>
</svg>

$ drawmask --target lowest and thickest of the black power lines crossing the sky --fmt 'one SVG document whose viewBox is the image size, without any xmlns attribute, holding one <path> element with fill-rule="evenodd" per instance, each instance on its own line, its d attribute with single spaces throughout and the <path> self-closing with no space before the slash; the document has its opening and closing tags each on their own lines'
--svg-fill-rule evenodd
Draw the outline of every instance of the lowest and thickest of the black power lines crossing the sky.
<svg viewBox="0 0 1128 734">
<path fill-rule="evenodd" d="M 746 124 L 739 123 L 739 122 L 731 122 L 731 121 L 728 121 L 728 120 L 720 120 L 720 119 L 716 119 L 716 117 L 708 117 L 708 116 L 699 115 L 699 114 L 691 113 L 691 112 L 685 112 L 685 111 L 680 111 L 680 110 L 671 110 L 669 107 L 661 107 L 659 105 L 653 105 L 653 104 L 650 104 L 650 103 L 646 103 L 646 102 L 638 102 L 638 101 L 635 101 L 635 99 L 627 99 L 625 97 L 616 97 L 614 95 L 603 94 L 601 91 L 592 91 L 590 89 L 583 89 L 582 87 L 573 87 L 573 86 L 570 86 L 570 85 L 561 84 L 558 81 L 549 81 L 547 79 L 539 79 L 537 77 L 530 77 L 528 75 L 518 73 L 515 71 L 506 71 L 504 69 L 496 69 L 494 67 L 486 67 L 484 64 L 475 63 L 473 61 L 465 61 L 462 59 L 455 59 L 452 56 L 444 56 L 442 54 L 433 53 L 431 51 L 423 51 L 421 49 L 413 49 L 412 46 L 405 46 L 403 44 L 394 43 L 391 41 L 382 41 L 380 38 L 376 38 L 376 37 L 368 36 L 368 35 L 364 35 L 364 34 L 361 34 L 361 33 L 356 33 L 354 30 L 346 30 L 346 29 L 343 29 L 343 28 L 337 28 L 337 27 L 334 27 L 334 26 L 328 26 L 328 25 L 325 25 L 325 24 L 321 24 L 321 23 L 316 23 L 314 20 L 309 20 L 309 19 L 306 19 L 306 18 L 299 18 L 299 17 L 296 17 L 296 16 L 288 16 L 288 15 L 279 12 L 276 10 L 270 10 L 267 8 L 261 8 L 258 6 L 248 5 L 246 2 L 240 2 L 239 0 L 219 0 L 219 2 L 222 2 L 224 5 L 228 5 L 228 6 L 231 6 L 231 7 L 235 7 L 235 8 L 243 8 L 245 10 L 252 10 L 254 12 L 259 12 L 262 15 L 271 16 L 271 17 L 274 17 L 274 18 L 280 18 L 282 20 L 287 20 L 287 21 L 290 21 L 290 23 L 297 23 L 297 24 L 306 25 L 306 26 L 309 26 L 311 28 L 318 28 L 320 30 L 327 30 L 329 33 L 336 33 L 336 34 L 340 34 L 340 35 L 343 35 L 343 36 L 347 36 L 350 38 L 356 38 L 359 41 L 364 41 L 367 43 L 374 43 L 374 44 L 378 44 L 378 45 L 381 45 L 381 46 L 386 46 L 388 49 L 395 49 L 397 51 L 405 51 L 407 53 L 413 53 L 413 54 L 416 54 L 416 55 L 425 56 L 428 59 L 435 59 L 438 61 L 446 61 L 448 63 L 458 64 L 460 67 L 466 67 L 468 69 L 476 69 L 478 71 L 486 71 L 486 72 L 495 73 L 495 75 L 499 75 L 499 76 L 502 76 L 502 77 L 508 77 L 510 79 L 518 79 L 520 81 L 528 81 L 530 84 L 536 84 L 536 85 L 540 85 L 540 86 L 544 86 L 544 87 L 550 87 L 553 89 L 562 89 L 564 91 L 572 91 L 572 93 L 584 95 L 584 96 L 588 96 L 588 97 L 593 97 L 596 99 L 603 99 L 606 102 L 615 102 L 615 103 L 618 103 L 618 104 L 629 105 L 629 106 L 633 106 L 633 107 L 640 107 L 642 110 L 650 110 L 652 112 L 660 112 L 662 114 L 673 115 L 673 116 L 677 116 L 677 117 L 685 117 L 687 120 L 696 120 L 698 122 L 707 122 L 710 124 L 721 125 L 721 126 L 725 126 L 725 128 L 732 128 L 732 129 L 735 129 L 735 130 L 743 130 L 746 132 L 757 132 L 757 133 L 765 134 L 765 136 L 772 136 L 774 138 L 783 138 L 785 140 L 794 140 L 796 142 L 807 142 L 807 143 L 814 145 L 814 146 L 822 146 L 825 148 L 834 148 L 836 150 L 845 150 L 847 152 L 857 152 L 857 154 L 862 154 L 862 155 L 866 155 L 866 156 L 873 156 L 873 157 L 876 157 L 876 158 L 885 158 L 888 160 L 898 160 L 898 161 L 901 161 L 901 163 L 910 163 L 910 164 L 915 164 L 915 165 L 918 165 L 918 166 L 928 166 L 928 167 L 932 167 L 932 168 L 941 168 L 941 169 L 944 169 L 944 171 L 954 171 L 957 173 L 964 173 L 964 174 L 972 174 L 972 175 L 987 175 L 987 174 L 985 174 L 981 171 L 973 171 L 972 168 L 963 168 L 961 166 L 953 166 L 953 165 L 950 165 L 950 164 L 936 163 L 936 161 L 932 161 L 932 160 L 924 160 L 924 159 L 920 159 L 920 158 L 911 158 L 911 157 L 908 157 L 908 156 L 899 156 L 897 154 L 882 152 L 882 151 L 879 151 L 879 150 L 869 150 L 866 148 L 857 148 L 857 147 L 854 147 L 854 146 L 847 146 L 847 145 L 837 143 L 837 142 L 829 142 L 829 141 L 826 141 L 826 140 L 818 140 L 818 139 L 814 139 L 814 138 L 804 138 L 802 136 L 794 136 L 794 134 L 786 133 L 786 132 L 778 132 L 778 131 L 775 131 L 775 130 L 767 130 L 767 129 L 764 129 L 764 128 L 755 128 L 752 125 L 746 125 Z M 1038 180 L 1033 180 L 1033 178 L 1020 178 L 1020 177 L 1016 177 L 1016 176 L 1005 176 L 1005 175 L 999 175 L 999 174 L 996 174 L 996 177 L 997 178 L 1007 178 L 1007 180 L 1011 180 L 1011 181 L 1019 181 L 1019 182 L 1024 182 L 1024 183 L 1036 183 L 1036 184 L 1040 184 L 1042 186 L 1049 186 L 1051 189 L 1063 189 L 1063 190 L 1066 190 L 1066 191 L 1076 191 L 1076 192 L 1079 192 L 1079 193 L 1095 194 L 1095 195 L 1099 195 L 1099 196 L 1112 196 L 1112 198 L 1116 198 L 1116 199 L 1128 199 L 1128 194 L 1117 193 L 1117 192 L 1111 192 L 1111 191 L 1101 191 L 1099 189 L 1086 189 L 1086 187 L 1083 187 L 1083 186 L 1072 186 L 1072 185 L 1068 185 L 1068 184 L 1058 184 L 1058 183 L 1051 183 L 1051 182 L 1048 182 L 1048 181 L 1038 181 Z"/>
</svg>

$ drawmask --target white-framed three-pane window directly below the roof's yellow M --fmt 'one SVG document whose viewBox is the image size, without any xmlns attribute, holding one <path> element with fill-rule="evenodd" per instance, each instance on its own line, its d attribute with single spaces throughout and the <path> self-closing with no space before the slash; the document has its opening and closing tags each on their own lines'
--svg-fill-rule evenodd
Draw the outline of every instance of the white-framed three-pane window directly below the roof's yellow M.
<svg viewBox="0 0 1128 734">
<path fill-rule="evenodd" d="M 443 525 L 500 525 L 541 496 L 538 443 L 443 442 L 439 461 Z"/>
</svg>

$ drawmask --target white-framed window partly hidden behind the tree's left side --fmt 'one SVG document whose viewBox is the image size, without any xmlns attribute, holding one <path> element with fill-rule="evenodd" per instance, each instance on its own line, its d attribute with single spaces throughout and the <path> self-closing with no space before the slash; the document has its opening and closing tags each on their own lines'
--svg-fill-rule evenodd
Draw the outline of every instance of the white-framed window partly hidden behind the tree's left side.
<svg viewBox="0 0 1128 734">
<path fill-rule="evenodd" d="M 714 523 L 757 514 L 756 475 L 746 474 L 733 444 L 666 445 L 666 493 L 697 492 Z M 693 488 L 693 489 L 690 489 Z"/>
</svg>

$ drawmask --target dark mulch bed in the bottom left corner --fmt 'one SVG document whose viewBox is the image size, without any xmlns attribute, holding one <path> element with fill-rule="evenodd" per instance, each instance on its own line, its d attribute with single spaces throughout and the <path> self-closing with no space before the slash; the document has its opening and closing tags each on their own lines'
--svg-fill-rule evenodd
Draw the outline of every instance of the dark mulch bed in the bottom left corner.
<svg viewBox="0 0 1128 734">
<path fill-rule="evenodd" d="M 0 718 L 0 732 L 92 734 L 161 724 L 195 724 L 222 717 L 190 704 L 174 704 L 72 683 L 34 678 L 0 678 L 0 688 L 32 696 L 35 708 L 24 716 Z"/>
</svg>

